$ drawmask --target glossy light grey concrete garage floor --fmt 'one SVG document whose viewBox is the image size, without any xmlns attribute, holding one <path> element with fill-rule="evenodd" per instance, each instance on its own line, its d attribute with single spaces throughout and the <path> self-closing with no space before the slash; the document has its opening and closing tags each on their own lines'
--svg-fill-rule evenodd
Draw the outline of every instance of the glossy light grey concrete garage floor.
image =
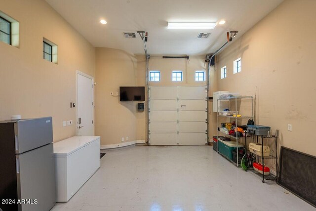
<svg viewBox="0 0 316 211">
<path fill-rule="evenodd" d="M 75 196 L 52 211 L 315 211 L 275 182 L 237 169 L 210 146 L 106 153 Z"/>
</svg>

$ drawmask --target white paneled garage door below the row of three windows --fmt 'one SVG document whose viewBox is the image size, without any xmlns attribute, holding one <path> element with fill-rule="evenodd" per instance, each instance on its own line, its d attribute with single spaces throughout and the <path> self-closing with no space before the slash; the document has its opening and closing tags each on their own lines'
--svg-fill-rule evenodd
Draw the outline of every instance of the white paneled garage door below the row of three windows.
<svg viewBox="0 0 316 211">
<path fill-rule="evenodd" d="M 149 87 L 151 145 L 204 145 L 206 142 L 205 86 Z"/>
</svg>

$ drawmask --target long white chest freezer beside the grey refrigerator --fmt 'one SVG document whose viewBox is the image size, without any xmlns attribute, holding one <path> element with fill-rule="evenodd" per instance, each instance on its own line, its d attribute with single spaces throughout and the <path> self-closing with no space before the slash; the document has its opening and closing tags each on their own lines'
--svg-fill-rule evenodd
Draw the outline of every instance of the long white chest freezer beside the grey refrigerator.
<svg viewBox="0 0 316 211">
<path fill-rule="evenodd" d="M 54 143 L 56 202 L 68 202 L 100 168 L 100 136 L 74 136 Z"/>
</svg>

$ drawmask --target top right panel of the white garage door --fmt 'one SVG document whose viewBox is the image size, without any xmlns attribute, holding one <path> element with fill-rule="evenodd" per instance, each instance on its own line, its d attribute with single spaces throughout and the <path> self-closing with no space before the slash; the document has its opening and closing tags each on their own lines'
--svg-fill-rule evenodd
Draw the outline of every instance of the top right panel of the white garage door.
<svg viewBox="0 0 316 211">
<path fill-rule="evenodd" d="M 179 86 L 179 99 L 205 99 L 205 86 Z"/>
</svg>

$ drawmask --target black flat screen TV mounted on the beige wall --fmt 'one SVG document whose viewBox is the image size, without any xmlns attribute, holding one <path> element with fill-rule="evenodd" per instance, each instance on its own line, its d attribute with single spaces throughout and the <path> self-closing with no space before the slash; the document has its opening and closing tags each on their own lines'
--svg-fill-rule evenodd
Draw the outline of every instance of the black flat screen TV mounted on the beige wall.
<svg viewBox="0 0 316 211">
<path fill-rule="evenodd" d="M 145 101 L 145 86 L 119 86 L 120 101 Z"/>
</svg>

